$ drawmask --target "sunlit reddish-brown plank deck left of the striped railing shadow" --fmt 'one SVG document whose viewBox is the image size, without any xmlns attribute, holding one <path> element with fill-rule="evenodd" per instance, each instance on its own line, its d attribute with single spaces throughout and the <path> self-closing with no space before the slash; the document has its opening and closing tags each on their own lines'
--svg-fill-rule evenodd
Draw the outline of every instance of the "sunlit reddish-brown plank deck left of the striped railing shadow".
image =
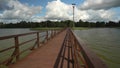
<svg viewBox="0 0 120 68">
<path fill-rule="evenodd" d="M 66 30 L 49 40 L 41 48 L 34 50 L 27 57 L 9 65 L 9 68 L 53 68 L 65 35 Z"/>
</svg>

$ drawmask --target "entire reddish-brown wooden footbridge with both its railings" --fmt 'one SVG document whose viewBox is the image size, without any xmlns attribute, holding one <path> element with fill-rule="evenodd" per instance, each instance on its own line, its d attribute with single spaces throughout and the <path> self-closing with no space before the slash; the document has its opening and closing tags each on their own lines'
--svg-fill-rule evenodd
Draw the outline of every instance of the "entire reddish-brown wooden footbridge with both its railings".
<svg viewBox="0 0 120 68">
<path fill-rule="evenodd" d="M 13 53 L 0 65 L 9 68 L 107 68 L 106 64 L 91 52 L 74 35 L 70 28 L 0 37 L 0 40 L 13 38 L 15 45 L 0 50 L 0 53 L 14 49 Z M 19 42 L 19 37 L 35 34 L 36 38 Z M 43 40 L 40 38 L 44 37 Z M 20 50 L 24 44 L 35 40 L 33 46 Z M 24 58 L 20 55 L 28 50 L 32 52 Z"/>
</svg>

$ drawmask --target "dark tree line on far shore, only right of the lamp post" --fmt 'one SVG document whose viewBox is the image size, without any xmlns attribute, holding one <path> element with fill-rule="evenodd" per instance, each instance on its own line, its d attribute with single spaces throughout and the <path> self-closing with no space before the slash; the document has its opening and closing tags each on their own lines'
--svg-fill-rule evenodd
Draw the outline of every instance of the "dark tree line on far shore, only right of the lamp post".
<svg viewBox="0 0 120 68">
<path fill-rule="evenodd" d="M 76 27 L 120 27 L 120 21 L 114 22 L 114 21 L 108 21 L 108 22 L 88 22 L 88 21 L 82 21 L 79 20 L 79 22 L 75 23 Z"/>
</svg>

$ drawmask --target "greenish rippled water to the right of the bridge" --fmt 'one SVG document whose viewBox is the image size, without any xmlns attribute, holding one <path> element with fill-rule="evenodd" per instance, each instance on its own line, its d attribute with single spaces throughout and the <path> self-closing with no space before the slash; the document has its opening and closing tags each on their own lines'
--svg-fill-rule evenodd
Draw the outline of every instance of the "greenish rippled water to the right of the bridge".
<svg viewBox="0 0 120 68">
<path fill-rule="evenodd" d="M 120 29 L 94 28 L 74 32 L 109 68 L 120 68 Z"/>
</svg>

